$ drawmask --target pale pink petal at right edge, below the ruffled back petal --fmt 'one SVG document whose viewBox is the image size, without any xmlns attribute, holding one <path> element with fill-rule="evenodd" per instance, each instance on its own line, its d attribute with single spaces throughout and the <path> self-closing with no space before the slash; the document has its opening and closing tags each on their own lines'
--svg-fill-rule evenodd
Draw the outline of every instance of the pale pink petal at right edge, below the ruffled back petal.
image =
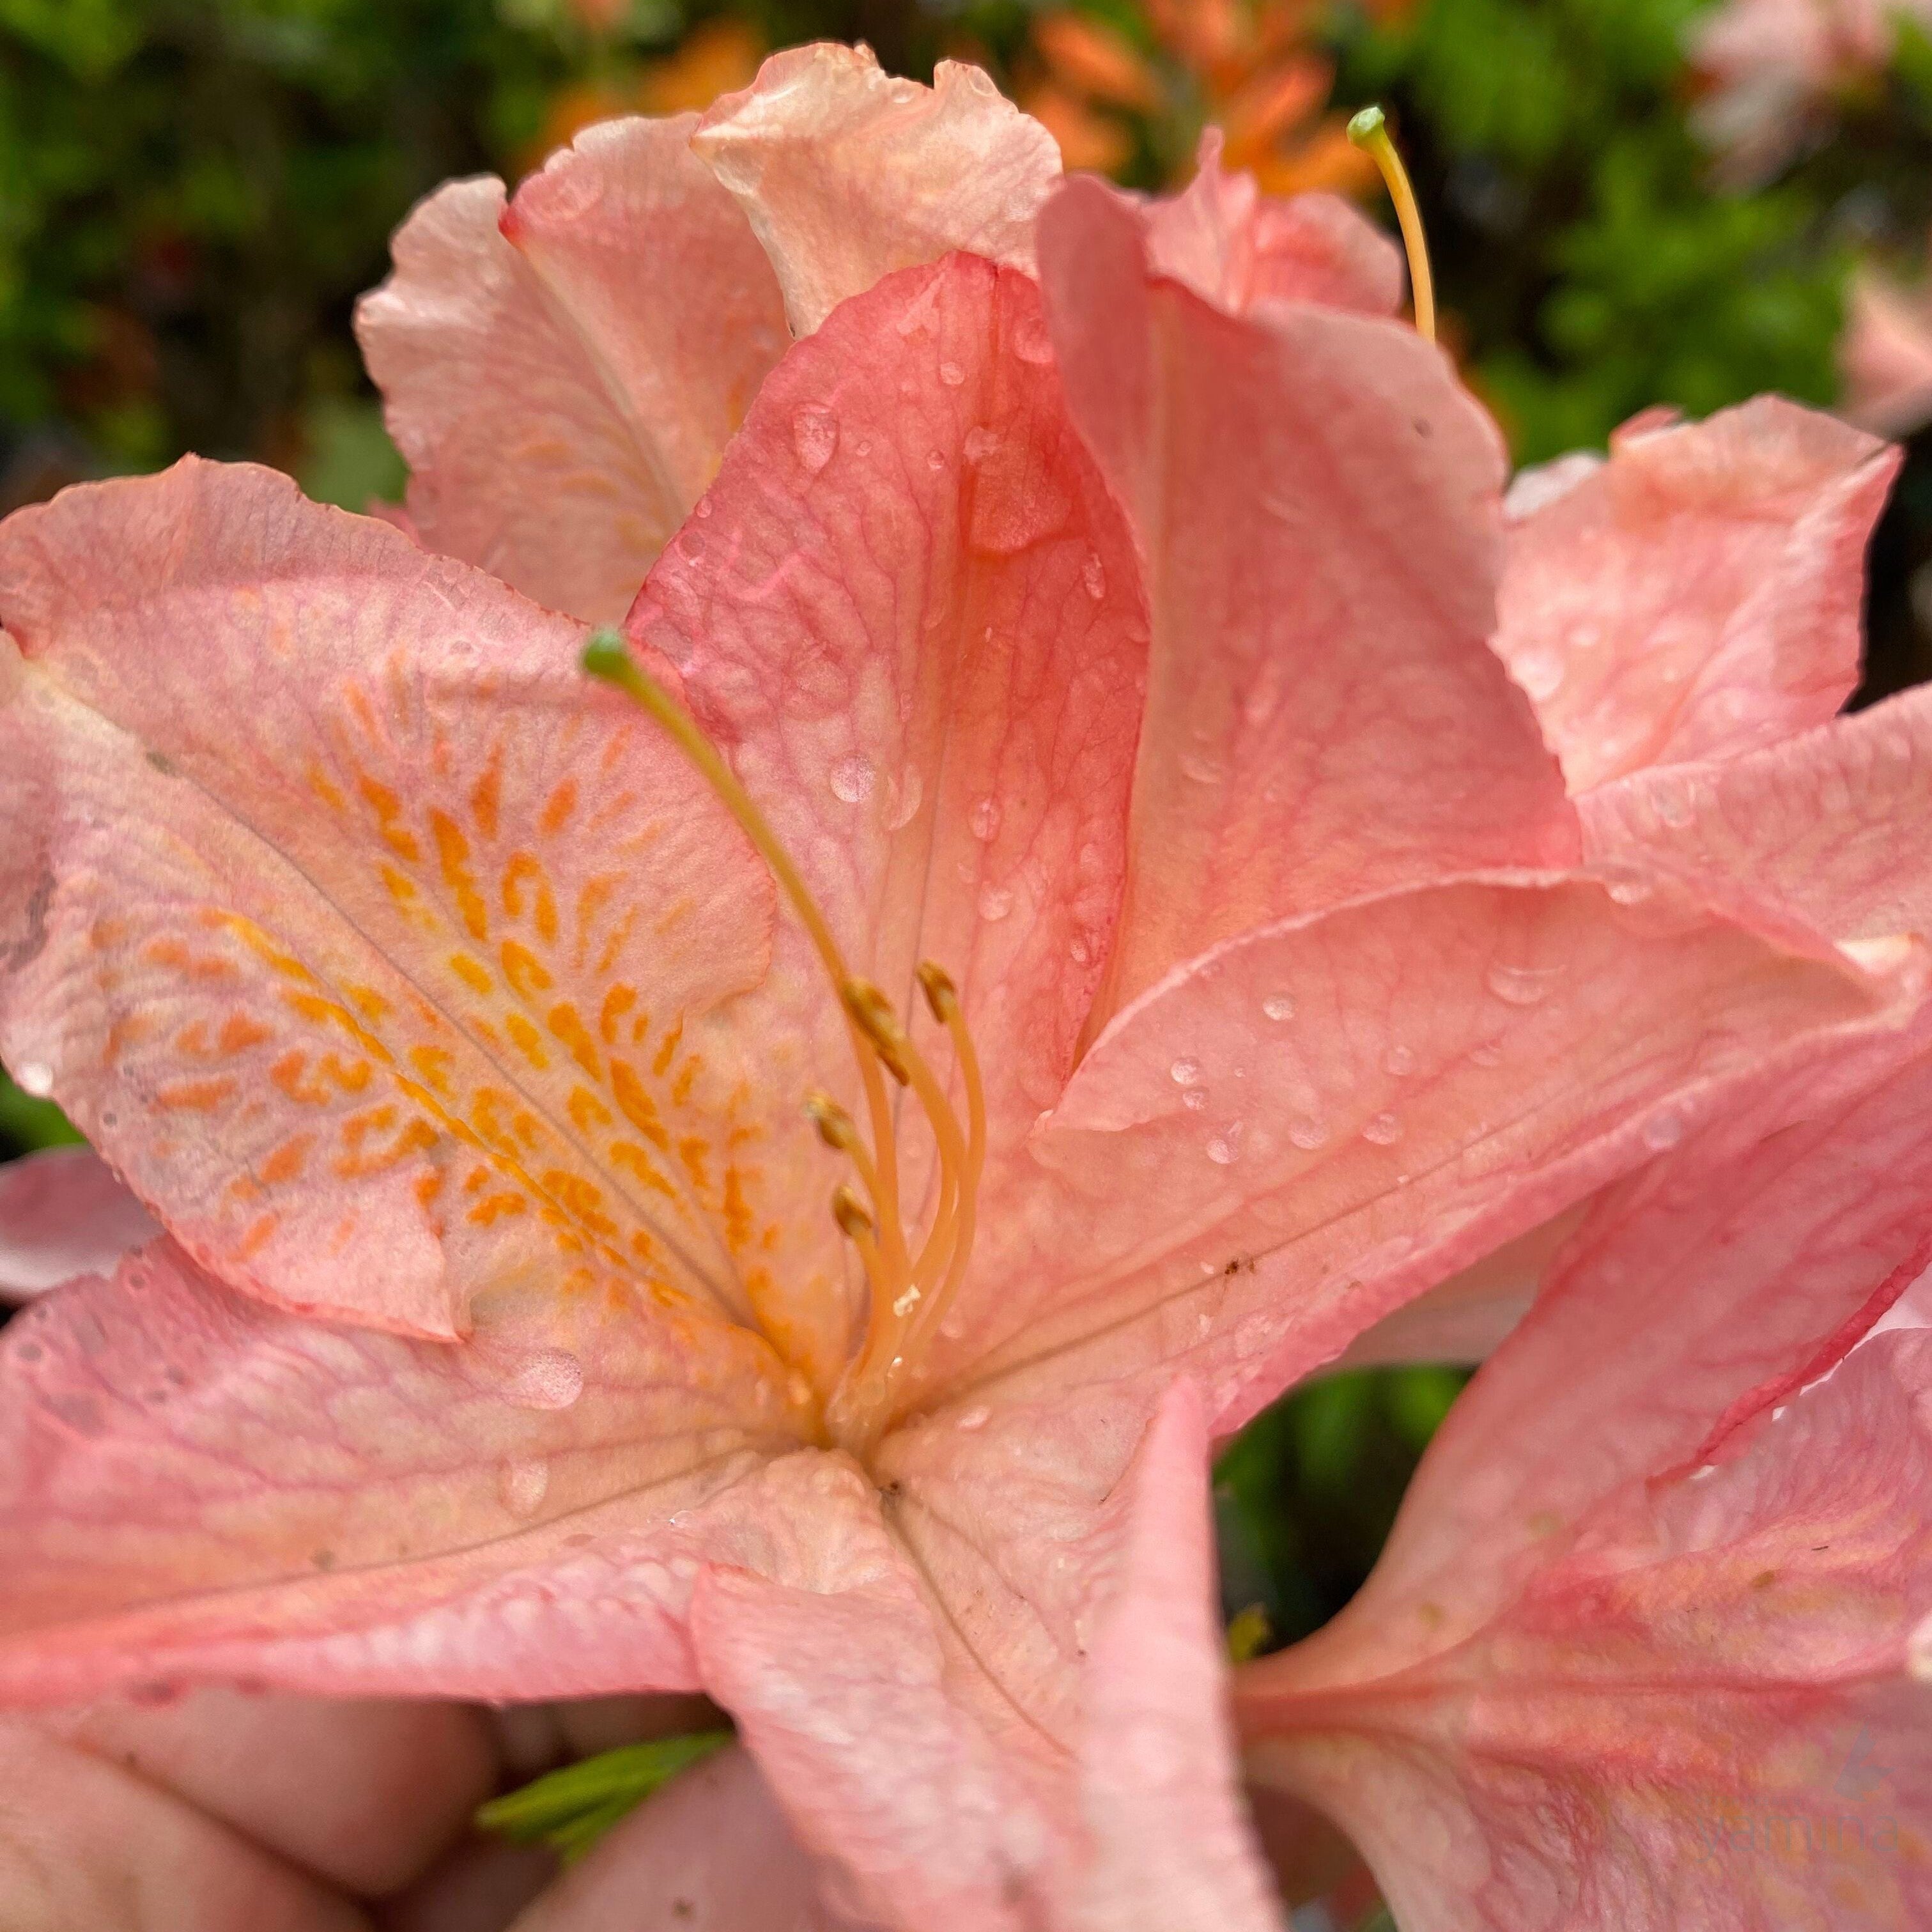
<svg viewBox="0 0 1932 1932">
<path fill-rule="evenodd" d="M 1727 765 L 1642 771 L 1584 800 L 1604 864 L 1750 895 L 1839 941 L 1932 933 L 1920 827 L 1932 784 L 1932 692 Z"/>
</svg>

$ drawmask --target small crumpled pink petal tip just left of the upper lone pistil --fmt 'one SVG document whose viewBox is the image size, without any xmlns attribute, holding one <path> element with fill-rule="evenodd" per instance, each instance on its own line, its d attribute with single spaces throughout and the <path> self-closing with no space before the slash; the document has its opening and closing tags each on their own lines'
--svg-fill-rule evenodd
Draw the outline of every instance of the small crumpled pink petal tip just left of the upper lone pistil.
<svg viewBox="0 0 1932 1932">
<path fill-rule="evenodd" d="M 1128 203 L 1132 205 L 1132 203 Z M 1229 315 L 1256 301 L 1320 301 L 1393 315 L 1403 253 L 1341 195 L 1264 197 L 1252 174 L 1221 168 L 1221 131 L 1202 135 L 1186 189 L 1144 213 L 1148 261 Z"/>
</svg>

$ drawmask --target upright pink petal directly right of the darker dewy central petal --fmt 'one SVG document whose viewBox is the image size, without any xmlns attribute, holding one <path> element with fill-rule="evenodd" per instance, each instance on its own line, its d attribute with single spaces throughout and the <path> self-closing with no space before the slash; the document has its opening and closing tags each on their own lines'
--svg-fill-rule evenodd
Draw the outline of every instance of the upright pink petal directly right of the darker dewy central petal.
<svg viewBox="0 0 1932 1932">
<path fill-rule="evenodd" d="M 1092 182 L 1041 220 L 1066 396 L 1140 535 L 1153 612 L 1113 1001 L 1289 910 L 1577 831 L 1486 645 L 1501 444 L 1412 330 L 1229 317 Z"/>
</svg>

